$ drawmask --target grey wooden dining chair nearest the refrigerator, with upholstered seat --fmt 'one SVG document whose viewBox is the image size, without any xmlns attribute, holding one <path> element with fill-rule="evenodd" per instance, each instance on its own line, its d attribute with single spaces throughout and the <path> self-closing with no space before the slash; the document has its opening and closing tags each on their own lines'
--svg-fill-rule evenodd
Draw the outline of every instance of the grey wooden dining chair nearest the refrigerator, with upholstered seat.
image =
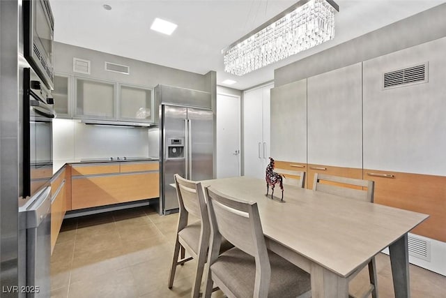
<svg viewBox="0 0 446 298">
<path fill-rule="evenodd" d="M 200 285 L 209 246 L 210 224 L 208 209 L 201 183 L 184 179 L 179 174 L 175 174 L 174 179 L 180 214 L 174 258 L 169 274 L 169 289 L 174 285 L 176 267 L 195 259 L 197 260 L 197 269 L 195 270 L 191 297 L 197 298 L 200 295 Z M 190 223 L 190 215 L 194 216 L 198 221 Z M 226 240 L 223 243 L 222 250 L 232 247 L 232 244 Z M 185 252 L 189 253 L 190 257 L 185 258 Z M 180 256 L 180 260 L 178 260 L 178 256 Z"/>
</svg>

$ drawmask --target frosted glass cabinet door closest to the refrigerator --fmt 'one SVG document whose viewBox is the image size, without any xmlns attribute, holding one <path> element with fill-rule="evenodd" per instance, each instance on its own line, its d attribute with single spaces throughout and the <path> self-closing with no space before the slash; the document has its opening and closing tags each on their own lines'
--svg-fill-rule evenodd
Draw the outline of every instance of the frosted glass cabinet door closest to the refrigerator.
<svg viewBox="0 0 446 298">
<path fill-rule="evenodd" d="M 153 89 L 119 86 L 119 119 L 153 122 Z"/>
</svg>

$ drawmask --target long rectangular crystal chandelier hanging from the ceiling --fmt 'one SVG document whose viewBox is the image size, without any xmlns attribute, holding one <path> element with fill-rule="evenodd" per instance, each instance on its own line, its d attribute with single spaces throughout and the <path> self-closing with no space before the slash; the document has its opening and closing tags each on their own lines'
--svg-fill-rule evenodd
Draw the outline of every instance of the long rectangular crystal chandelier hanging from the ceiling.
<svg viewBox="0 0 446 298">
<path fill-rule="evenodd" d="M 301 0 L 222 50 L 224 71 L 245 75 L 334 37 L 332 0 Z"/>
</svg>

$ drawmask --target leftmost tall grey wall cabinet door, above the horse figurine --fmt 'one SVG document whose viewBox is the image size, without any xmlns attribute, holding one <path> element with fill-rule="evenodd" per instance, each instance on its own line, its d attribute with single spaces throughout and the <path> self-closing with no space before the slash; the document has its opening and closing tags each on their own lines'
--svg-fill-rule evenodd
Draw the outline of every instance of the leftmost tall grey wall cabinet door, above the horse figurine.
<svg viewBox="0 0 446 298">
<path fill-rule="evenodd" d="M 307 163 L 307 79 L 271 89 L 270 155 Z"/>
</svg>

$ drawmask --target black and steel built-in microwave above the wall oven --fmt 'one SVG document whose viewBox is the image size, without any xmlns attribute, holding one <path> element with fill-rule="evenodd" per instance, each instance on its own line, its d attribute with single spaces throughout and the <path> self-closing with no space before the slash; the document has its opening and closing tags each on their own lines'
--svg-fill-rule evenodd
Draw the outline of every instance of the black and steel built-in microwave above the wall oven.
<svg viewBox="0 0 446 298">
<path fill-rule="evenodd" d="M 54 89 L 54 17 L 48 0 L 24 0 L 24 56 Z"/>
</svg>

